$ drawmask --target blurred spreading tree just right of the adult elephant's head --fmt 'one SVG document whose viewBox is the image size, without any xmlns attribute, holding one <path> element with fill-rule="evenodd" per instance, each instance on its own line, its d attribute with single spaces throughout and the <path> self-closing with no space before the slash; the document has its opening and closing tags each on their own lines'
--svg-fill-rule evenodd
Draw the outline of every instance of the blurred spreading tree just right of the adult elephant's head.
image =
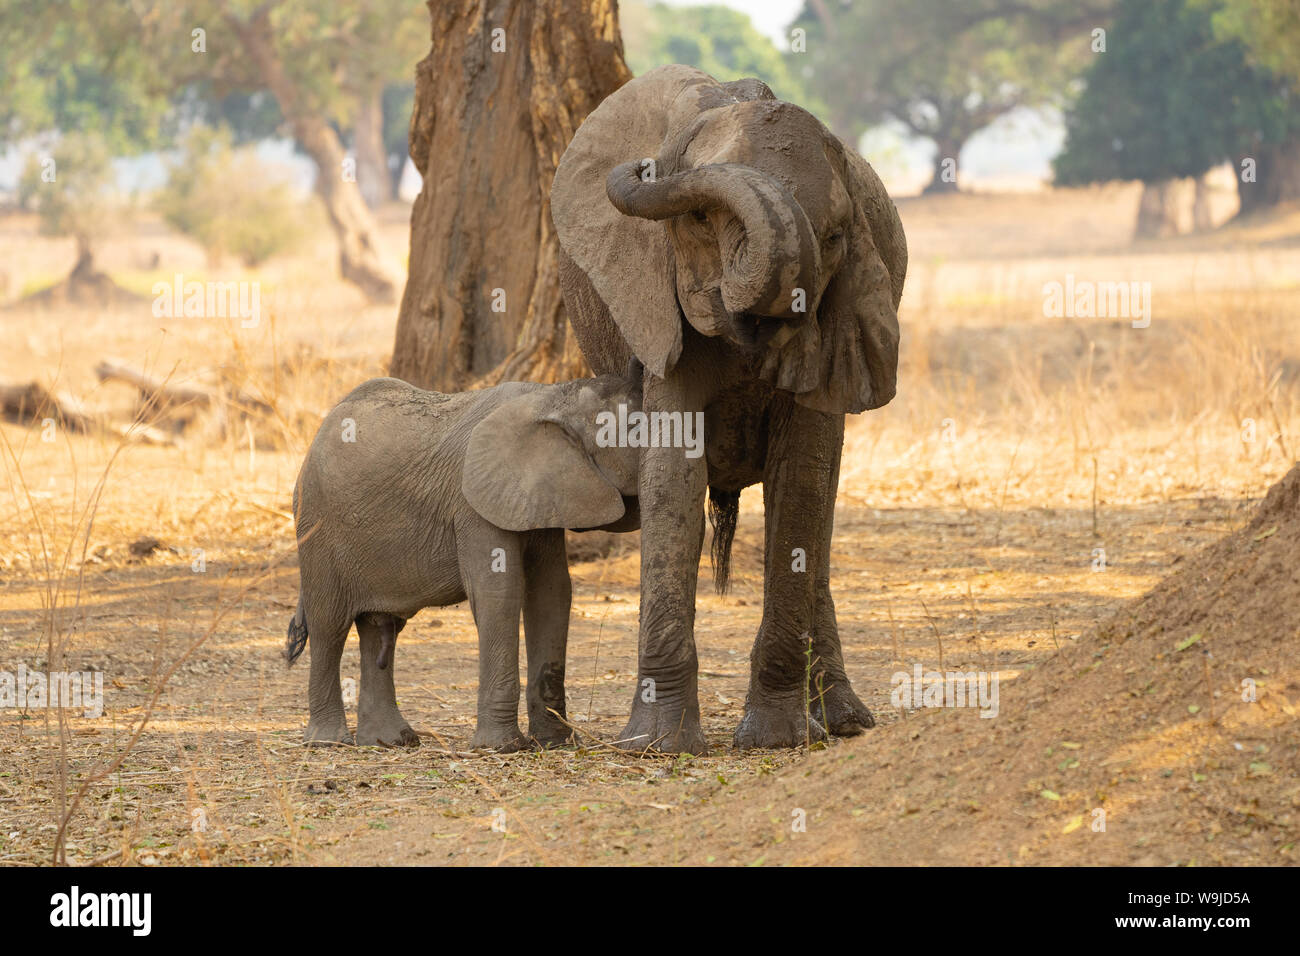
<svg viewBox="0 0 1300 956">
<path fill-rule="evenodd" d="M 1063 98 L 1091 55 L 1089 30 L 1110 0 L 809 0 L 794 26 L 807 34 L 800 64 L 827 104 L 831 127 L 855 143 L 893 120 L 935 143 L 927 193 L 957 189 L 966 140 L 1019 107 Z M 945 168 L 945 160 L 953 160 Z"/>
</svg>

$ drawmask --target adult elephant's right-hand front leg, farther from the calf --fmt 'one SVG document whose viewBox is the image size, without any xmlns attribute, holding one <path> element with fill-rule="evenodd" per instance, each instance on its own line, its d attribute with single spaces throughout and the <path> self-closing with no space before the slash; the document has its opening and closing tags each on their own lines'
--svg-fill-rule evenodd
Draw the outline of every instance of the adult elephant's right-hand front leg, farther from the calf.
<svg viewBox="0 0 1300 956">
<path fill-rule="evenodd" d="M 812 659 L 819 656 L 819 643 L 823 666 L 836 665 L 836 678 L 842 672 L 828 584 L 842 444 L 842 415 L 805 408 L 780 393 L 774 399 L 763 471 L 763 622 L 750 652 L 745 715 L 736 728 L 741 749 L 796 747 L 826 736 L 809 706 L 807 685 L 810 653 Z M 819 618 L 822 580 L 827 588 L 820 613 L 829 615 L 829 624 Z"/>
</svg>

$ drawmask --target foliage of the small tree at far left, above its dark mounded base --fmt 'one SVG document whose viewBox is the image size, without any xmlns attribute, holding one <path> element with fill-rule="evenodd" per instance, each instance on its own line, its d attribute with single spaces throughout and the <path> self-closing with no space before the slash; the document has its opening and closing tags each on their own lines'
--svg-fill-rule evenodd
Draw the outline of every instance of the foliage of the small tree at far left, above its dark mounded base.
<svg viewBox="0 0 1300 956">
<path fill-rule="evenodd" d="M 30 156 L 18 196 L 35 207 L 43 234 L 70 235 L 82 251 L 108 235 L 125 209 L 108 143 L 92 134 L 69 134 L 48 153 Z"/>
</svg>

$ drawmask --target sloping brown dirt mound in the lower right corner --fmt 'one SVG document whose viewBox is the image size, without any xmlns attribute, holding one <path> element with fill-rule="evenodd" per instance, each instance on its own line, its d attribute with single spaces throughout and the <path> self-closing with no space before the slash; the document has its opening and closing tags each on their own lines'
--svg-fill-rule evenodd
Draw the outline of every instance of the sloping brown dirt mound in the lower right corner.
<svg viewBox="0 0 1300 956">
<path fill-rule="evenodd" d="M 1294 862 L 1297 554 L 1300 467 L 1245 528 L 1004 674 L 996 719 L 913 713 L 719 788 L 673 839 L 719 862 Z"/>
</svg>

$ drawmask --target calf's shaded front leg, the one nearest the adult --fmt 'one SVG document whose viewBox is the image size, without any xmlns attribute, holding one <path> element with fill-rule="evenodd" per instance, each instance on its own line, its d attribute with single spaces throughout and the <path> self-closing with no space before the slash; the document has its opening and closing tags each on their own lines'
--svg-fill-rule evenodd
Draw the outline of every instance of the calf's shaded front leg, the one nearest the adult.
<svg viewBox="0 0 1300 956">
<path fill-rule="evenodd" d="M 563 531 L 534 532 L 525 551 L 524 644 L 528 648 L 528 736 L 542 747 L 569 743 L 564 723 L 564 652 L 572 585 Z M 559 714 L 556 717 L 555 714 Z"/>
</svg>

